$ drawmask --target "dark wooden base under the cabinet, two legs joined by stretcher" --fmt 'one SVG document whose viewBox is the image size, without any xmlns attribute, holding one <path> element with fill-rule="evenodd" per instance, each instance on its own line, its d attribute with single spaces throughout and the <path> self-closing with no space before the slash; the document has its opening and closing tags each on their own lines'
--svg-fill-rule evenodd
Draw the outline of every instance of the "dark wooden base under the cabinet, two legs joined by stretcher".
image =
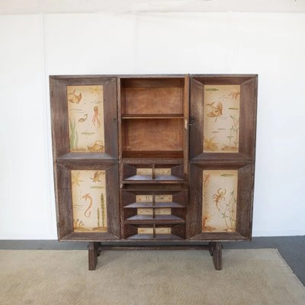
<svg viewBox="0 0 305 305">
<path fill-rule="evenodd" d="M 89 270 L 95 270 L 98 257 L 102 250 L 208 250 L 213 257 L 215 270 L 222 269 L 222 244 L 221 242 L 209 242 L 206 245 L 191 246 L 102 246 L 100 242 L 89 242 L 88 244 L 88 266 Z"/>
</svg>

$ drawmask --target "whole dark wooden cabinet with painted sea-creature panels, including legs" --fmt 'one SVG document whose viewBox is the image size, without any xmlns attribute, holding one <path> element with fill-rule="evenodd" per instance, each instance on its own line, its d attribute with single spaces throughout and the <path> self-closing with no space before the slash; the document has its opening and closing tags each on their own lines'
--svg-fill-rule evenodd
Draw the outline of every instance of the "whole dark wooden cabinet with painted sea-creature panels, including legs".
<svg viewBox="0 0 305 305">
<path fill-rule="evenodd" d="M 207 249 L 251 239 L 257 75 L 50 76 L 59 240 Z"/>
</svg>

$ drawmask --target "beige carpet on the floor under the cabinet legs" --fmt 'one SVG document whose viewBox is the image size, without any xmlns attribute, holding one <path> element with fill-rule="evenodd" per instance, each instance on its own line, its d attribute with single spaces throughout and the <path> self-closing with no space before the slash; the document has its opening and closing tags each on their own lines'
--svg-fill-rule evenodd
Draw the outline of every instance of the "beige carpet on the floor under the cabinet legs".
<svg viewBox="0 0 305 305">
<path fill-rule="evenodd" d="M 0 251 L 0 304 L 304 305 L 305 288 L 275 249 L 207 251 Z"/>
</svg>

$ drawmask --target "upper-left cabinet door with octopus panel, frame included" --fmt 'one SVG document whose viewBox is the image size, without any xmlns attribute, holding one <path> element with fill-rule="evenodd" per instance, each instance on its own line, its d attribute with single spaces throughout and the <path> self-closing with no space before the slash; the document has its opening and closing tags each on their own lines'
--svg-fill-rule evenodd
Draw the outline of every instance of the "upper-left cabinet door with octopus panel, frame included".
<svg viewBox="0 0 305 305">
<path fill-rule="evenodd" d="M 55 157 L 118 159 L 116 77 L 50 76 L 50 97 Z"/>
</svg>

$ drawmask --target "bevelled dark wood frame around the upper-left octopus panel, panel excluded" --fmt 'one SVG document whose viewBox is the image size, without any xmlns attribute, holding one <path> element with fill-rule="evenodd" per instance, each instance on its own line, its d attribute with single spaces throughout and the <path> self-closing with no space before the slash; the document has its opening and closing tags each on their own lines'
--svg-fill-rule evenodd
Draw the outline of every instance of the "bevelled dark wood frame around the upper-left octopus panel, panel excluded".
<svg viewBox="0 0 305 305">
<path fill-rule="evenodd" d="M 118 159 L 117 151 L 117 77 L 50 76 L 53 160 Z M 102 85 L 104 100 L 105 153 L 70 152 L 67 86 Z"/>
</svg>

